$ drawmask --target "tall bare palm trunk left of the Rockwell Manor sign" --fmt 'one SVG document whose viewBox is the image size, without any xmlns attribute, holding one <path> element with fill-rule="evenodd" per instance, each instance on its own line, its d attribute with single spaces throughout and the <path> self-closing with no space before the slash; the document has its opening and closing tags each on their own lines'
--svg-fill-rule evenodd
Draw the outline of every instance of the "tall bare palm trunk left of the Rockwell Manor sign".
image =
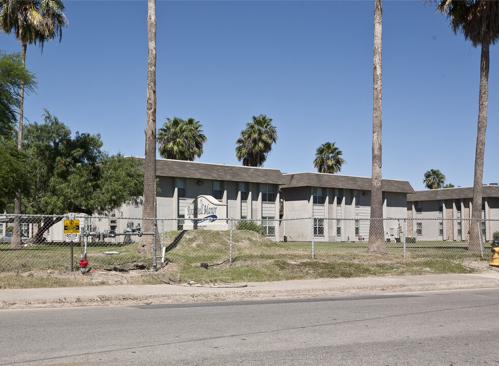
<svg viewBox="0 0 499 366">
<path fill-rule="evenodd" d="M 147 90 L 147 125 L 145 129 L 144 162 L 144 201 L 143 218 L 154 218 L 155 182 L 156 182 L 156 0 L 148 0 L 148 90 Z M 142 230 L 153 232 L 154 222 L 142 220 Z M 153 237 L 142 236 L 139 251 L 153 251 Z"/>
</svg>

